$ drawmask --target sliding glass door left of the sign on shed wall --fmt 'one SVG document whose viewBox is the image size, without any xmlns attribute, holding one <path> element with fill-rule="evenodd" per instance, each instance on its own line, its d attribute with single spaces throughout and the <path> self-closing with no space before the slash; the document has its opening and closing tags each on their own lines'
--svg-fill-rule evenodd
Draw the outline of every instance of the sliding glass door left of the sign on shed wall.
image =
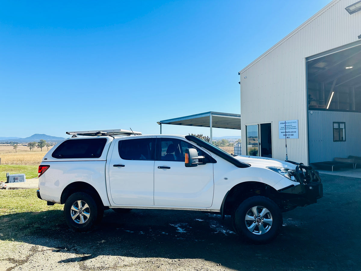
<svg viewBox="0 0 361 271">
<path fill-rule="evenodd" d="M 246 125 L 247 155 L 272 158 L 271 124 Z"/>
</svg>

